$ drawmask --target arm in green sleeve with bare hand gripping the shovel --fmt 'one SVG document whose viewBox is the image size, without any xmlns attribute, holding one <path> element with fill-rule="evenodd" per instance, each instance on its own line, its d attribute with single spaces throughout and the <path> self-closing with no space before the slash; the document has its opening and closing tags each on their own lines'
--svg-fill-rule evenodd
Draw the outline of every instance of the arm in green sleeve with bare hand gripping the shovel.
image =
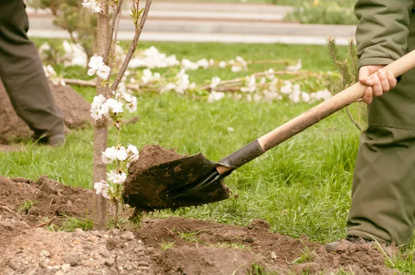
<svg viewBox="0 0 415 275">
<path fill-rule="evenodd" d="M 405 55 L 412 4 L 412 0 L 358 0 L 356 3 L 359 81 L 369 86 L 363 97 L 368 104 L 373 95 L 380 96 L 396 86 L 394 75 L 378 70 Z M 377 75 L 369 77 L 376 71 Z"/>
</svg>

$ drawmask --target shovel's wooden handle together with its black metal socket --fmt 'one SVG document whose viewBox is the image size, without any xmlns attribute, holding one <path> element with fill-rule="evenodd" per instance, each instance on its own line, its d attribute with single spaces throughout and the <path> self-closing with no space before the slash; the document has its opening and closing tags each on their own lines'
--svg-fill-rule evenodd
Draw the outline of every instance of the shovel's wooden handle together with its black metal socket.
<svg viewBox="0 0 415 275">
<path fill-rule="evenodd" d="M 400 57 L 400 59 L 386 66 L 384 70 L 390 70 L 391 73 L 394 73 L 395 77 L 398 77 L 414 67 L 415 50 L 412 50 L 412 52 L 407 53 L 407 55 Z M 297 133 L 301 133 L 308 127 L 320 122 L 320 120 L 361 99 L 365 95 L 366 87 L 359 82 L 353 84 L 344 91 L 223 158 L 216 164 L 216 170 L 219 174 L 223 174 L 254 160 L 259 155 L 297 135 Z"/>
</svg>

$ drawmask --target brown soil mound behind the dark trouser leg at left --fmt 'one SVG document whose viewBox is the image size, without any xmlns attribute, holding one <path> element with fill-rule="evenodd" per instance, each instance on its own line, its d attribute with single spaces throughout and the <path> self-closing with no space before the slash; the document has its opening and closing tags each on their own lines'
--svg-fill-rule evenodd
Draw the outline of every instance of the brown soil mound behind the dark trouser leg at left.
<svg viewBox="0 0 415 275">
<path fill-rule="evenodd" d="M 64 112 L 65 125 L 75 129 L 91 124 L 91 104 L 70 86 L 50 83 L 55 104 Z M 27 138 L 31 133 L 26 123 L 17 116 L 0 80 L 0 144 Z"/>
</svg>

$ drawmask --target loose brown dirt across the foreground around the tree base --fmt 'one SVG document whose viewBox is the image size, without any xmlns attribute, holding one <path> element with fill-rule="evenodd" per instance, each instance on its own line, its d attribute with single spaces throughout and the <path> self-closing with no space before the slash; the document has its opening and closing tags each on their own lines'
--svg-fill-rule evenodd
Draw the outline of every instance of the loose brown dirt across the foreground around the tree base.
<svg viewBox="0 0 415 275">
<path fill-rule="evenodd" d="M 270 232 L 264 220 L 235 227 L 208 220 L 143 218 L 140 229 L 133 229 L 125 218 L 120 229 L 48 231 L 37 227 L 44 217 L 57 217 L 53 224 L 60 225 L 66 219 L 63 214 L 78 218 L 90 214 L 93 192 L 45 176 L 38 180 L 0 176 L 0 186 L 0 274 L 396 272 L 385 267 L 385 258 L 374 244 L 343 242 L 338 252 L 327 253 L 306 237 L 293 239 Z M 17 213 L 28 199 L 37 203 L 27 213 Z M 299 260 L 306 251 L 311 256 Z M 394 253 L 392 248 L 385 251 Z"/>
</svg>

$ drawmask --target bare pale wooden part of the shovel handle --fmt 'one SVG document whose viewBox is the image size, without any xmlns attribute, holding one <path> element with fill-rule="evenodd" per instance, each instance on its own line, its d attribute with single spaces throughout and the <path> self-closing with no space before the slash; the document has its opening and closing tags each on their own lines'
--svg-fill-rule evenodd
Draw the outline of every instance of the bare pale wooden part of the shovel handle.
<svg viewBox="0 0 415 275">
<path fill-rule="evenodd" d="M 412 50 L 412 52 L 407 53 L 407 55 L 404 55 L 388 66 L 385 66 L 384 70 L 390 70 L 395 77 L 398 77 L 414 67 L 415 50 Z M 264 151 L 272 149 L 297 133 L 300 133 L 308 127 L 313 126 L 313 124 L 320 122 L 320 120 L 323 120 L 349 104 L 356 102 L 356 100 L 361 99 L 363 95 L 365 95 L 366 87 L 367 86 L 364 86 L 359 82 L 353 84 L 353 86 L 350 86 L 344 91 L 318 104 L 314 108 L 311 108 L 298 117 L 295 117 L 293 120 L 286 122 L 277 129 L 270 131 L 261 138 L 258 138 L 259 144 Z"/>
</svg>

